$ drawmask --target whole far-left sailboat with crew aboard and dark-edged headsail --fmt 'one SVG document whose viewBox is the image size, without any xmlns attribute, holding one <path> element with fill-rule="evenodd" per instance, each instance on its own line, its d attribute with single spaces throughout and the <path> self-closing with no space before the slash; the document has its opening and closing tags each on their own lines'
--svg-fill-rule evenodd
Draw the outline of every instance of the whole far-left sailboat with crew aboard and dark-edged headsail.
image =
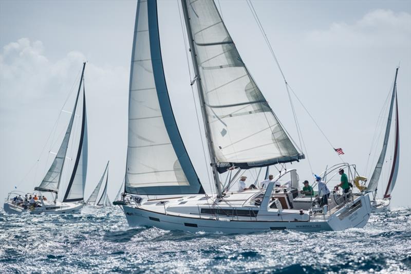
<svg viewBox="0 0 411 274">
<path fill-rule="evenodd" d="M 84 69 L 86 63 L 83 63 L 82 74 L 80 78 L 79 89 L 74 102 L 73 111 L 71 113 L 70 121 L 67 126 L 66 133 L 60 145 L 59 151 L 55 154 L 55 158 L 44 176 L 42 182 L 38 187 L 34 188 L 34 193 L 28 193 L 26 197 L 38 196 L 37 200 L 25 200 L 25 195 L 18 198 L 18 192 L 11 192 L 8 194 L 4 203 L 4 210 L 7 213 L 20 214 L 28 211 L 31 214 L 67 214 L 80 212 L 83 207 L 84 186 L 86 182 L 87 173 L 87 117 L 86 117 L 86 98 L 84 88 Z M 83 102 L 79 103 L 81 90 L 83 87 Z M 72 136 L 73 123 L 76 117 L 81 117 L 80 136 L 78 137 L 78 146 L 74 144 L 74 140 L 70 142 Z M 75 150 L 75 158 L 67 157 L 67 149 L 71 145 L 77 148 Z M 73 160 L 71 170 L 66 168 L 67 160 Z M 67 165 L 70 166 L 70 165 Z M 66 184 L 62 184 L 63 169 L 66 168 L 70 176 Z M 52 200 L 43 199 L 45 193 L 50 193 Z M 61 202 L 58 200 L 59 193 L 63 194 Z M 36 197 L 37 198 L 37 197 Z"/>
</svg>

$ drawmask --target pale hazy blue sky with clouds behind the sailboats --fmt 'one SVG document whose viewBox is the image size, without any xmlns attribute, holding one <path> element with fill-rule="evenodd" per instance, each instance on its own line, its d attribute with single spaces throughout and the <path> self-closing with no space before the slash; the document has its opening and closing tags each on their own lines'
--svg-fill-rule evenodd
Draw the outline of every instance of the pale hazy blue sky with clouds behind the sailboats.
<svg viewBox="0 0 411 274">
<path fill-rule="evenodd" d="M 300 144 L 284 80 L 247 3 L 216 3 L 242 60 Z M 333 147 L 343 148 L 342 159 L 370 177 L 382 144 L 380 131 L 375 135 L 376 124 L 380 120 L 384 127 L 384 102 L 400 65 L 400 167 L 391 205 L 411 206 L 411 2 L 252 0 L 252 4 L 287 82 L 332 144 L 292 96 L 308 159 L 287 167 L 296 168 L 301 180 L 341 162 Z M 15 186 L 31 191 L 47 172 L 52 159 L 48 151 L 58 148 L 59 133 L 69 119 L 61 110 L 72 108 L 72 90 L 84 61 L 89 138 L 85 196 L 110 160 L 108 195 L 114 199 L 125 171 L 136 6 L 136 1 L 0 1 L 2 200 Z M 177 1 L 160 0 L 158 9 L 173 111 L 193 165 L 209 190 Z M 384 171 L 382 185 L 387 177 Z"/>
</svg>

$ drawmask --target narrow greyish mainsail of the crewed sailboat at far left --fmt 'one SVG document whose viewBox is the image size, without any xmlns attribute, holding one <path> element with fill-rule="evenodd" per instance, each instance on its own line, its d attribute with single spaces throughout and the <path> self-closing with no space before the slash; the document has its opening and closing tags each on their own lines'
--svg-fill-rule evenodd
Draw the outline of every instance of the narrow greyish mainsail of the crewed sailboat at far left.
<svg viewBox="0 0 411 274">
<path fill-rule="evenodd" d="M 64 138 L 63 138 L 63 142 L 60 145 L 60 149 L 57 155 L 55 156 L 53 163 L 51 164 L 49 170 L 47 171 L 46 176 L 44 176 L 44 179 L 42 180 L 40 186 L 35 187 L 34 190 L 51 191 L 54 193 L 59 192 L 61 175 L 62 175 L 64 161 L 65 161 L 66 154 L 67 154 L 67 147 L 68 147 L 68 142 L 70 140 L 71 128 L 73 126 L 73 121 L 74 121 L 74 115 L 76 113 L 77 102 L 79 100 L 81 85 L 83 82 L 85 66 L 86 66 L 86 63 L 83 64 L 83 70 L 82 70 L 82 74 L 80 78 L 79 90 L 77 92 L 76 101 L 74 102 L 73 112 L 71 114 L 71 118 L 68 123 L 66 134 L 64 135 Z"/>
</svg>

